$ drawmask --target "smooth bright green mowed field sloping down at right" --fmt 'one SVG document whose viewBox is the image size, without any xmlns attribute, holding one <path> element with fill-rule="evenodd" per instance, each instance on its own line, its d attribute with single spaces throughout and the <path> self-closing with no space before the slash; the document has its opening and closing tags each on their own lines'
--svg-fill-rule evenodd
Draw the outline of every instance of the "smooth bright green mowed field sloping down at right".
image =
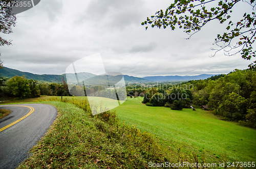
<svg viewBox="0 0 256 169">
<path fill-rule="evenodd" d="M 227 161 L 256 161 L 256 130 L 218 119 L 210 112 L 149 107 L 127 98 L 115 108 L 120 121 L 154 134 L 160 143 L 187 154 L 199 152 Z"/>
</svg>

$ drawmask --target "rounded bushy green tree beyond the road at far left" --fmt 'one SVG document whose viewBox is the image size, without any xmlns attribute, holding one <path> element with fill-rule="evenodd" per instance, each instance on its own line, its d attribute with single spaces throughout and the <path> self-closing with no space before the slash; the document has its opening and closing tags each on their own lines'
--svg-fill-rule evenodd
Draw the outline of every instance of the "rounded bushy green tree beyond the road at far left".
<svg viewBox="0 0 256 169">
<path fill-rule="evenodd" d="M 14 95 L 20 98 L 30 96 L 31 90 L 29 86 L 28 79 L 25 76 L 14 76 L 8 82 L 7 86 L 9 91 Z"/>
</svg>

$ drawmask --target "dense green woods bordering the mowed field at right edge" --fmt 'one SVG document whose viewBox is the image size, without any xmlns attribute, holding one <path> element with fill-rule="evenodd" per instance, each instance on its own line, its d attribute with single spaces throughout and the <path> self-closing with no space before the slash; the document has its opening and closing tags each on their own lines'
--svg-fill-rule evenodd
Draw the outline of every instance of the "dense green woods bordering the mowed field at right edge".
<svg viewBox="0 0 256 169">
<path fill-rule="evenodd" d="M 189 81 L 193 84 L 193 103 L 207 105 L 224 120 L 256 127 L 256 73 L 234 70 L 216 80 Z"/>
</svg>

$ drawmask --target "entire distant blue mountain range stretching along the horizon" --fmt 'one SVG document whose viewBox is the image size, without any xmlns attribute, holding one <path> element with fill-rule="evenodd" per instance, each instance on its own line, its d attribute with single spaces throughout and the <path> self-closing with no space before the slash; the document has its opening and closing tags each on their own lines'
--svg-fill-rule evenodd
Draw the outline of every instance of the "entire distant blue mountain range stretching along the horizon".
<svg viewBox="0 0 256 169">
<path fill-rule="evenodd" d="M 60 82 L 60 81 L 62 81 L 62 78 L 64 78 L 66 80 L 66 76 L 67 76 L 69 78 L 68 79 L 69 82 L 73 83 L 73 84 L 77 84 L 77 78 L 79 80 L 87 79 L 87 83 L 90 83 L 90 84 L 104 83 L 104 81 L 106 79 L 106 76 L 97 76 L 97 75 L 94 75 L 91 73 L 77 73 L 77 76 L 72 76 L 72 74 L 37 75 L 37 74 L 32 74 L 32 73 L 8 68 L 8 67 L 4 67 L 3 69 L 0 69 L 0 74 L 1 74 L 1 76 L 6 77 L 6 78 L 12 78 L 14 76 L 25 76 L 27 79 L 34 79 L 34 80 L 43 81 L 43 82 Z M 69 76 L 69 75 L 71 75 L 71 76 Z M 123 75 L 125 83 L 189 81 L 189 80 L 207 79 L 207 78 L 210 78 L 211 76 L 215 76 L 215 75 L 202 74 L 202 75 L 198 75 L 198 76 L 147 76 L 144 78 Z M 113 80 L 113 82 L 114 81 L 118 82 L 118 80 L 120 80 L 120 75 L 112 76 L 111 80 Z"/>
</svg>

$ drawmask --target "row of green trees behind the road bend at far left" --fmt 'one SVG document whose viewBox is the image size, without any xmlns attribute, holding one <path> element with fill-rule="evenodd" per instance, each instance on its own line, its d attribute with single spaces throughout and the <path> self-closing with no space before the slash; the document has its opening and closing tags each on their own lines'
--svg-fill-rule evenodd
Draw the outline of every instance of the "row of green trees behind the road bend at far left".
<svg viewBox="0 0 256 169">
<path fill-rule="evenodd" d="M 15 76 L 11 79 L 0 79 L 1 97 L 35 98 L 40 95 L 70 95 L 65 81 L 60 83 L 38 83 L 37 80 Z"/>
</svg>

